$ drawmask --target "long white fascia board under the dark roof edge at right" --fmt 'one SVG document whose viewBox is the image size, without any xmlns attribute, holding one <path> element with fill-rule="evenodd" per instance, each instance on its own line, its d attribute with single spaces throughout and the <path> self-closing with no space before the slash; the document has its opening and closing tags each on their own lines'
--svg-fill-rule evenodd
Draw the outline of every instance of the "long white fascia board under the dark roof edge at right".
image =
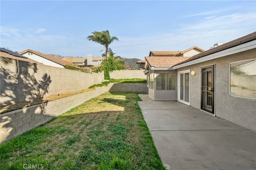
<svg viewBox="0 0 256 170">
<path fill-rule="evenodd" d="M 231 48 L 228 48 L 228 49 L 224 49 L 224 50 L 221 50 L 220 52 L 213 53 L 213 54 L 210 54 L 210 55 L 206 55 L 206 56 L 203 56 L 203 57 L 198 58 L 196 60 L 192 60 L 190 62 L 174 66 L 174 67 L 172 67 L 172 69 L 179 69 L 181 67 L 185 67 L 185 66 L 188 66 L 188 65 L 197 64 L 197 63 L 213 60 L 215 58 L 220 58 L 220 57 L 223 57 L 223 56 L 244 52 L 245 50 L 250 50 L 250 49 L 253 49 L 253 48 L 256 48 L 256 40 L 253 40 L 253 41 L 250 41 L 248 43 L 244 43 L 244 44 L 241 44 L 241 45 L 238 45 L 238 46 L 235 46 L 235 47 L 231 47 Z"/>
</svg>

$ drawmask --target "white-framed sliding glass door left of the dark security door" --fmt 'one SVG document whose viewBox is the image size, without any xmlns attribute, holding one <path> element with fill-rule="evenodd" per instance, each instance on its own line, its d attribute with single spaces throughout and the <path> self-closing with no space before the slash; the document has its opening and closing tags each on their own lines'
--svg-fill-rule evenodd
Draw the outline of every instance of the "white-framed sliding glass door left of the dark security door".
<svg viewBox="0 0 256 170">
<path fill-rule="evenodd" d="M 178 101 L 189 105 L 189 70 L 178 72 Z"/>
</svg>

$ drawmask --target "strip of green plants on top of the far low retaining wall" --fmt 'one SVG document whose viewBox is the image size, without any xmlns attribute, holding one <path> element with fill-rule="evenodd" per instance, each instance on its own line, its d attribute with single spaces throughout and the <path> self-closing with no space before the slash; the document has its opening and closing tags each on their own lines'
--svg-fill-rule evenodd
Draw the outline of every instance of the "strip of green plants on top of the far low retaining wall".
<svg viewBox="0 0 256 170">
<path fill-rule="evenodd" d="M 94 84 L 90 86 L 89 89 L 93 89 L 95 87 L 103 87 L 108 86 L 109 83 L 146 83 L 147 79 L 110 79 L 109 81 L 104 81 L 100 84 Z"/>
</svg>

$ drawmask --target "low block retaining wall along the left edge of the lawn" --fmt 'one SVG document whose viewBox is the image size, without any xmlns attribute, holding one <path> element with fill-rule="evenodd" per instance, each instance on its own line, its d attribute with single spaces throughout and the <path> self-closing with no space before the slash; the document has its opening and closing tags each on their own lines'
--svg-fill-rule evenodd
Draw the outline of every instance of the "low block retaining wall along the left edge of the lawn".
<svg viewBox="0 0 256 170">
<path fill-rule="evenodd" d="M 97 87 L 93 91 L 61 98 L 47 103 L 19 109 L 17 111 L 0 114 L 0 143 L 46 123 L 53 117 L 67 112 L 93 97 L 108 91 L 113 83 L 107 87 Z"/>
</svg>

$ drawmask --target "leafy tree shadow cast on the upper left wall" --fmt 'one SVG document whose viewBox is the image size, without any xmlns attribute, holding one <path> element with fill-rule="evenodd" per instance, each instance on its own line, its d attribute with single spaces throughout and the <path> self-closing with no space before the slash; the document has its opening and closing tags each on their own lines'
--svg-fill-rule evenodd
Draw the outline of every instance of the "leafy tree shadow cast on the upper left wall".
<svg viewBox="0 0 256 170">
<path fill-rule="evenodd" d="M 1 107 L 9 107 L 21 101 L 43 99 L 51 83 L 50 75 L 43 74 L 36 80 L 37 64 L 1 57 Z"/>
</svg>

